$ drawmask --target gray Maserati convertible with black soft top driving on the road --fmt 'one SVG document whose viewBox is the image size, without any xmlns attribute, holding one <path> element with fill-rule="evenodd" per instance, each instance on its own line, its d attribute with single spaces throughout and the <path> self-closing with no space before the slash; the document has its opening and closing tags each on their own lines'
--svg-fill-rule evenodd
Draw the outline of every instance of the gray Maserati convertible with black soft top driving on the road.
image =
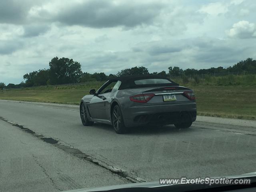
<svg viewBox="0 0 256 192">
<path fill-rule="evenodd" d="M 146 124 L 188 128 L 196 120 L 196 100 L 193 90 L 165 77 L 117 77 L 82 98 L 80 116 L 84 126 L 111 124 L 118 134 Z"/>
</svg>

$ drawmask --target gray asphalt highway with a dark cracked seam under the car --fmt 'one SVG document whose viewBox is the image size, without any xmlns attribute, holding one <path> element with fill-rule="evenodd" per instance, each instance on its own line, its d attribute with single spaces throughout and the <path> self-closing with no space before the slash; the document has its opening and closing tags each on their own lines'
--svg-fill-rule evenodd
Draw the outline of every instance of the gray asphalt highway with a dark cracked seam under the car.
<svg viewBox="0 0 256 192">
<path fill-rule="evenodd" d="M 78 106 L 0 100 L 0 191 L 255 172 L 256 123 L 206 121 L 118 135 L 108 125 L 83 126 Z"/>
</svg>

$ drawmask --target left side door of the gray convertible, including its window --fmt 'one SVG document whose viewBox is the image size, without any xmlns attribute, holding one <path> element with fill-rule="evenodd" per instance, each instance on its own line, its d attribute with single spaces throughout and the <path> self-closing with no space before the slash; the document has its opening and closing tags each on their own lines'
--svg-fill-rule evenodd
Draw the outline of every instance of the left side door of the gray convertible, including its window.
<svg viewBox="0 0 256 192">
<path fill-rule="evenodd" d="M 117 81 L 106 82 L 90 100 L 89 112 L 94 119 L 106 119 L 106 103 L 108 102 L 108 95 Z"/>
</svg>

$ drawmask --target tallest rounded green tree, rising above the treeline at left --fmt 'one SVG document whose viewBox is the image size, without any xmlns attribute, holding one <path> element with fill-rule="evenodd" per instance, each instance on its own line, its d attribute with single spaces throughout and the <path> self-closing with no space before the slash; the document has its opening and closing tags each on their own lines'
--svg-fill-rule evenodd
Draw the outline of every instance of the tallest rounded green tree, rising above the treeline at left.
<svg viewBox="0 0 256 192">
<path fill-rule="evenodd" d="M 54 57 L 49 62 L 50 83 L 76 83 L 82 76 L 81 64 L 73 59 Z"/>
</svg>

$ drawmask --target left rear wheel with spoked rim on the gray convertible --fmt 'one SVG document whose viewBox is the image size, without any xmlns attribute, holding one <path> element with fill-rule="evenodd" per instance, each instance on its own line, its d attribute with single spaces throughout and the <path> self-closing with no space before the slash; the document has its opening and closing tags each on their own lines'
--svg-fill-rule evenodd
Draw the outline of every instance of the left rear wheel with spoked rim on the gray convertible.
<svg viewBox="0 0 256 192">
<path fill-rule="evenodd" d="M 118 105 L 114 106 L 112 110 L 111 118 L 112 118 L 112 125 L 117 134 L 127 133 L 128 130 L 124 126 L 124 119 L 122 116 L 121 109 Z"/>
</svg>

